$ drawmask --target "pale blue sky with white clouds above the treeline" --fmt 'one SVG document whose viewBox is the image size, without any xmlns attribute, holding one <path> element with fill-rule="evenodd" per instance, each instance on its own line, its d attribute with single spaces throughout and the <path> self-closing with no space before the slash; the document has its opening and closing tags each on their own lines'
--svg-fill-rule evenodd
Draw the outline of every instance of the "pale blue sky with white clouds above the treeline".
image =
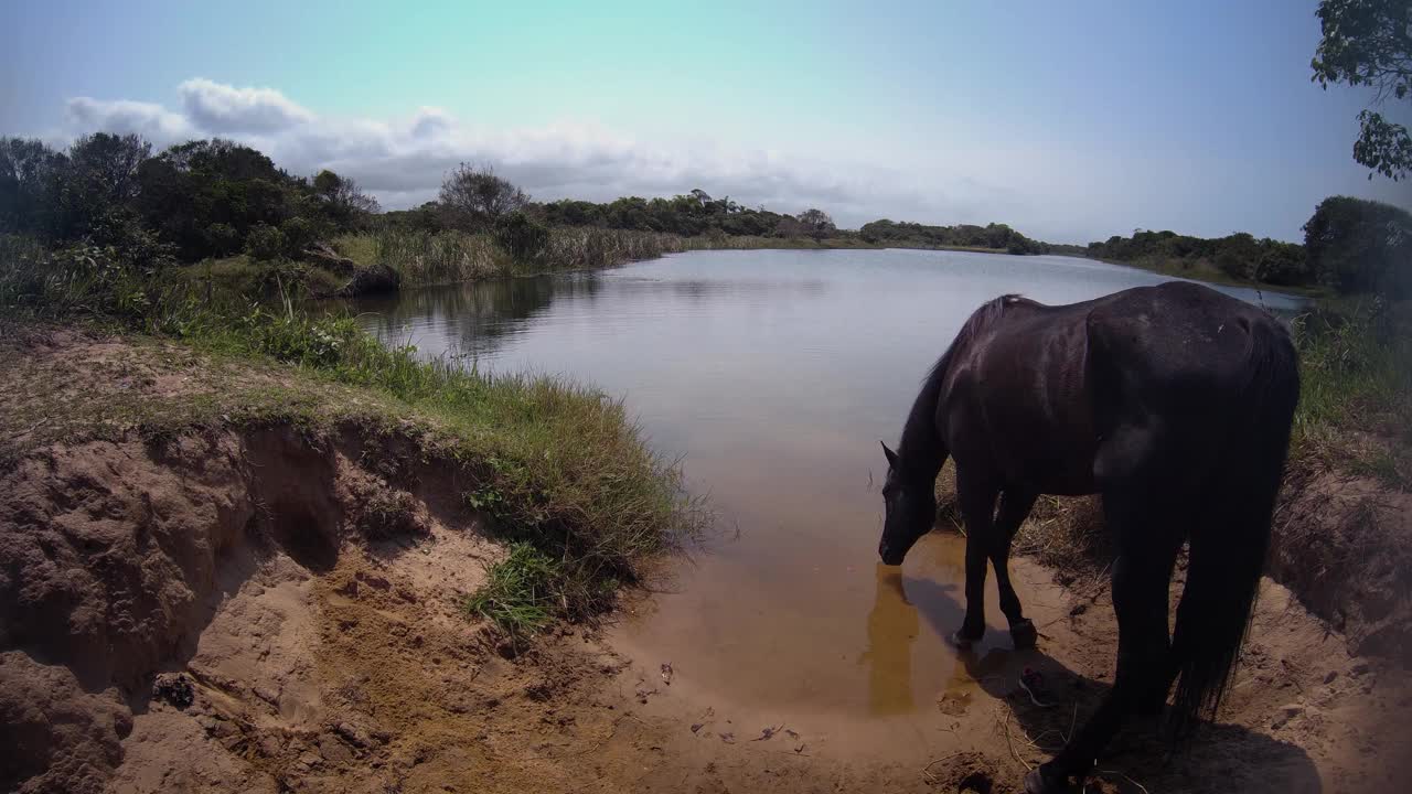
<svg viewBox="0 0 1412 794">
<path fill-rule="evenodd" d="M 490 164 L 535 199 L 1300 240 L 1367 90 L 1322 89 L 1315 0 L 0 3 L 0 134 L 236 138 L 387 209 Z M 1385 106 L 1412 123 L 1412 103 Z"/>
</svg>

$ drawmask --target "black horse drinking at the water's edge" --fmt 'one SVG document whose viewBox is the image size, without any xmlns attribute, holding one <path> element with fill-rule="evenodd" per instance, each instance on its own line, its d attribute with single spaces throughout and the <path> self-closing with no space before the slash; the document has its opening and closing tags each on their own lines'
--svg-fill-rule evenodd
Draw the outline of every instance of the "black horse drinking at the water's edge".
<svg viewBox="0 0 1412 794">
<path fill-rule="evenodd" d="M 986 630 L 986 561 L 1018 647 L 1035 643 L 1007 569 L 1010 541 L 1041 493 L 1103 496 L 1118 619 L 1114 685 L 1031 793 L 1082 780 L 1125 718 L 1171 735 L 1214 715 L 1260 586 L 1275 493 L 1299 398 L 1289 333 L 1257 307 L 1187 283 L 1065 307 L 1017 295 L 976 311 L 928 374 L 888 459 L 878 554 L 897 565 L 936 516 L 950 455 L 966 540 L 966 617 Z M 1000 510 L 995 500 L 1000 499 Z M 1189 543 L 1168 636 L 1168 586 Z"/>
</svg>

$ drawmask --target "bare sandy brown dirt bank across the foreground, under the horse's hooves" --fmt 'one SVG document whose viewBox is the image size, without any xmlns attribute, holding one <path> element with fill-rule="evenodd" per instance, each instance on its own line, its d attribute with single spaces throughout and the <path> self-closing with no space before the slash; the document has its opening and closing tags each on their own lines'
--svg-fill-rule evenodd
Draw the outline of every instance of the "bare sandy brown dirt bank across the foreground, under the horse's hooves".
<svg viewBox="0 0 1412 794">
<path fill-rule="evenodd" d="M 73 389 L 192 389 L 133 360 L 160 350 L 75 338 L 40 355 L 126 362 L 75 365 Z M 508 660 L 459 610 L 501 551 L 441 496 L 465 490 L 455 476 L 353 428 L 25 448 L 0 470 L 0 788 L 1012 791 L 1107 687 L 1106 591 L 1029 562 L 1039 650 L 962 657 L 907 719 L 731 702 L 620 630 L 561 629 Z M 1090 788 L 1388 790 L 1412 771 L 1412 689 L 1357 653 L 1267 581 L 1220 723 L 1176 759 L 1134 732 Z"/>
</svg>

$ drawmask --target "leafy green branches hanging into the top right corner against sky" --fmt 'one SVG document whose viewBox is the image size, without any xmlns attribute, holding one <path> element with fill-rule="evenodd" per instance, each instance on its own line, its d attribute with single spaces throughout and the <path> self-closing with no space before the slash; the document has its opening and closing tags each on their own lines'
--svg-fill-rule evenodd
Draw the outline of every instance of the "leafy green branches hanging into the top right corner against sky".
<svg viewBox="0 0 1412 794">
<path fill-rule="evenodd" d="M 1323 40 L 1310 66 L 1313 79 L 1370 86 L 1374 105 L 1412 99 L 1412 1 L 1320 0 Z M 1412 136 L 1371 107 L 1358 114 L 1353 158 L 1372 172 L 1399 179 L 1412 174 Z M 1368 178 L 1372 178 L 1372 172 Z"/>
</svg>

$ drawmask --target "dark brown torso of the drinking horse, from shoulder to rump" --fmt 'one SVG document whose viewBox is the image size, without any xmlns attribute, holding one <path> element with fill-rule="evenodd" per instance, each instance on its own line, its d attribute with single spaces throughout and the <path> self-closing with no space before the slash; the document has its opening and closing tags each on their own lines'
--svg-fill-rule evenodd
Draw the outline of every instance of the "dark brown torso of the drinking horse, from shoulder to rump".
<svg viewBox="0 0 1412 794">
<path fill-rule="evenodd" d="M 1247 415 L 1254 339 L 1288 346 L 1264 311 L 1190 283 L 1056 307 L 1005 297 L 977 318 L 949 353 L 938 431 L 973 476 L 1041 493 L 1203 470 Z"/>
</svg>

